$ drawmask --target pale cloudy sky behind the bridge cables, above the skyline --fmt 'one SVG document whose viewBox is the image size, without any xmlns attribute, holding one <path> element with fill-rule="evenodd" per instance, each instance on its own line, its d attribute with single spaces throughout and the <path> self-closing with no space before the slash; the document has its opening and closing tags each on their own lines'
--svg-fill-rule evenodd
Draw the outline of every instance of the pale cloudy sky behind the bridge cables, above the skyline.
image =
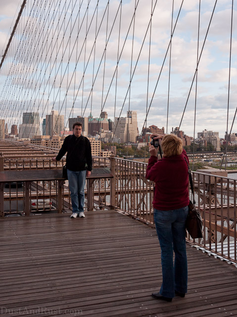
<svg viewBox="0 0 237 317">
<path fill-rule="evenodd" d="M 1 55 L 22 2 L 0 0 Z M 227 117 L 230 131 L 237 106 L 236 3 L 229 90 L 232 0 L 200 1 L 199 41 L 199 0 L 174 0 L 173 20 L 173 0 L 126 0 L 122 8 L 113 0 L 109 6 L 100 0 L 98 7 L 95 0 L 59 2 L 27 1 L 0 70 L 0 113 L 9 126 L 21 123 L 26 111 L 39 111 L 43 119 L 55 109 L 66 124 L 72 115 L 92 111 L 97 117 L 102 109 L 112 120 L 137 110 L 140 132 L 145 124 L 168 132 L 181 124 L 193 136 L 194 116 L 196 133 L 207 129 L 224 137 Z"/>
</svg>

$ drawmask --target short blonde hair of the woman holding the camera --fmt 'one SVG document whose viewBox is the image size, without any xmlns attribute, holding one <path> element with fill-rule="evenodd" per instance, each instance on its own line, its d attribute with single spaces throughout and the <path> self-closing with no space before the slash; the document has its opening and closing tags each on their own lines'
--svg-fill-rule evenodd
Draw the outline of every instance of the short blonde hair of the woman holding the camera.
<svg viewBox="0 0 237 317">
<path fill-rule="evenodd" d="M 161 147 L 164 157 L 181 155 L 183 152 L 183 141 L 175 134 L 167 134 L 162 139 Z"/>
</svg>

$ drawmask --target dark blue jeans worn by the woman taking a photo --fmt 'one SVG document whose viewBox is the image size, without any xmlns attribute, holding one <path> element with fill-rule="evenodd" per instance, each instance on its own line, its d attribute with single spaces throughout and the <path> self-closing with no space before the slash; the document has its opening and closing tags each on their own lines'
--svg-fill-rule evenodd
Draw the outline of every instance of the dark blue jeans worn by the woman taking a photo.
<svg viewBox="0 0 237 317">
<path fill-rule="evenodd" d="M 175 291 L 187 293 L 188 264 L 186 254 L 185 222 L 188 206 L 176 210 L 154 209 L 154 221 L 161 248 L 163 283 L 160 295 L 173 298 Z M 175 263 L 173 263 L 173 251 Z"/>
</svg>

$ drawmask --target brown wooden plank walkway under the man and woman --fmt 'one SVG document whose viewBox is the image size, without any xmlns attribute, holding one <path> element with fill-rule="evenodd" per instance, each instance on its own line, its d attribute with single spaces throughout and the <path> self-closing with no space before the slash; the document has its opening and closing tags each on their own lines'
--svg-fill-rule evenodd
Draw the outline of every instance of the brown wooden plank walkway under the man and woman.
<svg viewBox="0 0 237 317">
<path fill-rule="evenodd" d="M 116 211 L 0 220 L 0 316 L 237 316 L 237 268 L 188 249 L 189 291 L 161 284 L 154 229 Z"/>
</svg>

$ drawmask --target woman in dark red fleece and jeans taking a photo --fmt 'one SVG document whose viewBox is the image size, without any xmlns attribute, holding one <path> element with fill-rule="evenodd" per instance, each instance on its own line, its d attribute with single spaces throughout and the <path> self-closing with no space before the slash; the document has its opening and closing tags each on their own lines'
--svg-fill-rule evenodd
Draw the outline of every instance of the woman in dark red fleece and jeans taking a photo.
<svg viewBox="0 0 237 317">
<path fill-rule="evenodd" d="M 189 205 L 189 162 L 183 142 L 175 134 L 153 134 L 160 139 L 163 158 L 157 159 L 157 148 L 149 147 L 151 155 L 146 178 L 155 182 L 153 199 L 154 222 L 161 248 L 163 282 L 152 297 L 171 302 L 177 295 L 185 297 L 188 286 L 186 227 Z M 175 262 L 173 263 L 173 252 Z"/>
</svg>

